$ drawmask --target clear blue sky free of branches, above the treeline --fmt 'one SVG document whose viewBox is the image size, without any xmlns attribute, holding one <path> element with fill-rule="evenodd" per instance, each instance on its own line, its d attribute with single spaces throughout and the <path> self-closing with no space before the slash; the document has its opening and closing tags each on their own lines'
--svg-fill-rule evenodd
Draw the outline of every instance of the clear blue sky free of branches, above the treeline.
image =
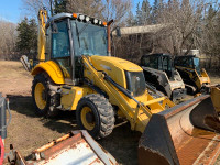
<svg viewBox="0 0 220 165">
<path fill-rule="evenodd" d="M 136 10 L 138 2 L 142 1 L 143 0 L 132 0 L 133 12 L 135 12 Z M 22 0 L 1 0 L 0 20 L 3 19 L 10 22 L 18 23 L 24 16 L 24 10 L 22 10 Z"/>
</svg>

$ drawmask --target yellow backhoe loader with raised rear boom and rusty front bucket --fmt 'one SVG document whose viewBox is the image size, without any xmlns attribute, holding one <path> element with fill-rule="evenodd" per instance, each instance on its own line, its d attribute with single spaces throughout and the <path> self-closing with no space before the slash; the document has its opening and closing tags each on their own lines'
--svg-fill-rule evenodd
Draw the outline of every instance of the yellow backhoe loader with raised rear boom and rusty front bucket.
<svg viewBox="0 0 220 165">
<path fill-rule="evenodd" d="M 110 56 L 112 21 L 79 13 L 59 13 L 47 20 L 45 10 L 40 11 L 38 20 L 37 61 L 21 58 L 34 77 L 32 97 L 37 113 L 76 110 L 78 125 L 95 139 L 108 136 L 114 117 L 120 116 L 131 130 L 143 132 L 140 164 L 210 163 L 217 158 L 219 136 L 215 132 L 220 130 L 204 120 L 208 116 L 219 123 L 210 96 L 179 106 L 167 97 L 151 96 L 148 90 L 154 89 L 146 88 L 140 66 Z M 202 160 L 212 143 L 218 152 Z"/>
</svg>

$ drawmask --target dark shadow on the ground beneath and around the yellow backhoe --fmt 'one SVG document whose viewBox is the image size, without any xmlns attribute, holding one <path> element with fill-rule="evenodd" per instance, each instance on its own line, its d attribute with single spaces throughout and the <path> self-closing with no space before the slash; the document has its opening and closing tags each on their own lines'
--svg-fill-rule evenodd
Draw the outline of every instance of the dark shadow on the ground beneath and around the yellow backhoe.
<svg viewBox="0 0 220 165">
<path fill-rule="evenodd" d="M 38 119 L 44 127 L 67 133 L 77 130 L 76 114 L 74 111 L 61 111 L 56 118 L 45 119 L 38 117 L 34 111 L 34 106 L 31 96 L 8 95 L 10 99 L 10 109 L 29 118 Z M 123 124 L 113 130 L 106 139 L 101 139 L 98 143 L 110 152 L 120 164 L 138 164 L 138 144 L 141 133 L 131 131 L 130 124 Z M 124 152 L 125 151 L 125 152 Z M 30 160 L 28 155 L 25 160 Z"/>
</svg>

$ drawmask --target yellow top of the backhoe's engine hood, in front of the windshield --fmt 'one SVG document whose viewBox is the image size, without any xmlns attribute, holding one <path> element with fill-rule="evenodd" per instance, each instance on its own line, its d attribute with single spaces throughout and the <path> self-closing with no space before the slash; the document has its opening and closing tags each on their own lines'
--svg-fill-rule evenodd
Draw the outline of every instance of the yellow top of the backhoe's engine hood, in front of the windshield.
<svg viewBox="0 0 220 165">
<path fill-rule="evenodd" d="M 143 69 L 129 61 L 112 57 L 112 56 L 91 56 L 91 63 L 102 67 L 103 69 L 112 69 L 111 66 L 128 70 L 128 72 L 143 72 Z"/>
</svg>

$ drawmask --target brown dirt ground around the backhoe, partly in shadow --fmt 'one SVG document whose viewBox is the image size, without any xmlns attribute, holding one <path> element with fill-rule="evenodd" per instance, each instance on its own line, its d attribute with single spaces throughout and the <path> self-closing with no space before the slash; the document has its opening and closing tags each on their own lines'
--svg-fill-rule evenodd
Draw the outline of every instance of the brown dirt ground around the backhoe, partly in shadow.
<svg viewBox="0 0 220 165">
<path fill-rule="evenodd" d="M 217 76 L 211 81 L 220 82 Z M 8 128 L 6 147 L 13 144 L 25 158 L 33 150 L 78 129 L 74 112 L 62 112 L 55 119 L 37 117 L 31 98 L 32 76 L 20 62 L 0 61 L 0 92 L 10 99 L 12 121 Z M 190 98 L 190 97 L 188 97 Z M 98 141 L 120 164 L 138 164 L 138 143 L 141 133 L 129 124 L 118 127 L 112 134 Z"/>
</svg>

